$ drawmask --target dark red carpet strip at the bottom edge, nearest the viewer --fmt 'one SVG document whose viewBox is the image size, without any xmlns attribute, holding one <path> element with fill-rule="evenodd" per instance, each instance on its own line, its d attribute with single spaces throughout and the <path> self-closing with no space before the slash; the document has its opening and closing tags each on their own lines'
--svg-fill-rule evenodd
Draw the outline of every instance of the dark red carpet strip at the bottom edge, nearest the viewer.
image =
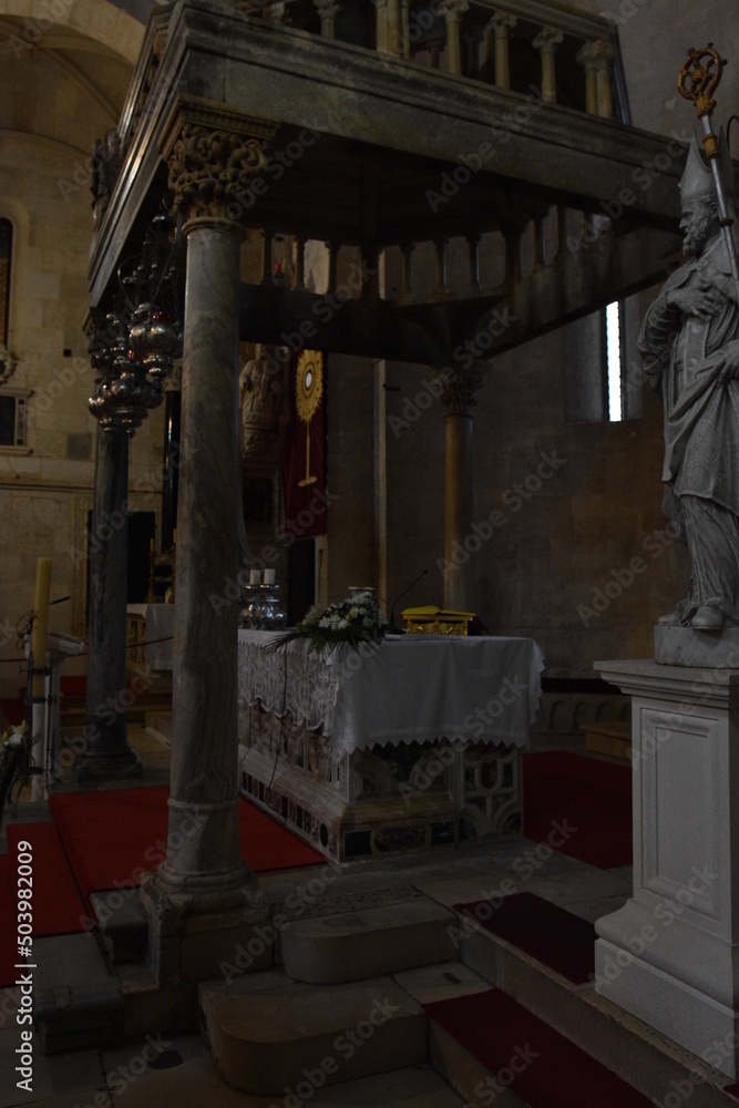
<svg viewBox="0 0 739 1108">
<path fill-rule="evenodd" d="M 492 1105 L 505 1087 L 536 1108 L 649 1108 L 605 1066 L 497 988 L 424 1004 L 440 1027 L 490 1070 L 475 1104 Z"/>
</svg>

